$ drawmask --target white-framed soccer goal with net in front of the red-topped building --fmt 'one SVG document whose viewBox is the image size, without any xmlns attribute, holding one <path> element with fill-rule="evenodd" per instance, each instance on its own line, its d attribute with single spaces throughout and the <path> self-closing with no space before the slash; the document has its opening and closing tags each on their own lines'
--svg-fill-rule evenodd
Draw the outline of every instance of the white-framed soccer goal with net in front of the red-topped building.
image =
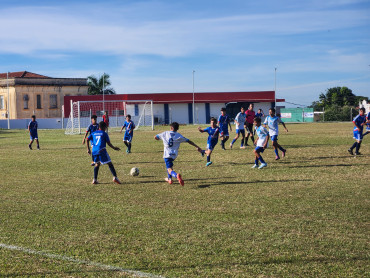
<svg viewBox="0 0 370 278">
<path fill-rule="evenodd" d="M 135 123 L 135 130 L 154 130 L 154 115 L 152 100 L 130 101 L 76 101 L 71 100 L 71 112 L 65 129 L 65 134 L 81 134 L 91 124 L 91 116 L 96 115 L 98 122 L 103 120 L 104 111 L 109 116 L 109 131 L 120 130 L 126 120 L 126 115 L 131 115 Z"/>
</svg>

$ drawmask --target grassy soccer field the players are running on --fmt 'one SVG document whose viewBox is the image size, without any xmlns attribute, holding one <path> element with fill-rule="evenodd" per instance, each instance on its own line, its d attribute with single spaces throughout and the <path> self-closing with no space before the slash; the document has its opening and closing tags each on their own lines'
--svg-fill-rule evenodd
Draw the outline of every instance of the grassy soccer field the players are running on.
<svg viewBox="0 0 370 278">
<path fill-rule="evenodd" d="M 168 127 L 135 132 L 131 154 L 110 132 L 122 185 L 108 166 L 91 184 L 82 135 L 39 130 L 31 151 L 26 131 L 0 130 L 0 276 L 369 277 L 370 135 L 350 156 L 352 126 L 287 124 L 287 156 L 269 147 L 262 170 L 240 139 L 210 167 L 184 143 L 184 187 L 164 181 Z M 179 132 L 205 147 L 196 126 Z"/>
</svg>

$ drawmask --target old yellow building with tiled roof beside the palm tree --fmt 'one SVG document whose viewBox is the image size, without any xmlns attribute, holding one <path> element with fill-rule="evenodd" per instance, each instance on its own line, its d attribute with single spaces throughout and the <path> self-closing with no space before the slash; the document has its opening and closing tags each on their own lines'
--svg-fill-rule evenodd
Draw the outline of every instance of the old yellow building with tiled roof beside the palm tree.
<svg viewBox="0 0 370 278">
<path fill-rule="evenodd" d="M 8 78 L 7 78 L 8 75 Z M 87 95 L 86 78 L 51 78 L 21 71 L 0 73 L 0 119 L 60 118 L 64 96 Z"/>
</svg>

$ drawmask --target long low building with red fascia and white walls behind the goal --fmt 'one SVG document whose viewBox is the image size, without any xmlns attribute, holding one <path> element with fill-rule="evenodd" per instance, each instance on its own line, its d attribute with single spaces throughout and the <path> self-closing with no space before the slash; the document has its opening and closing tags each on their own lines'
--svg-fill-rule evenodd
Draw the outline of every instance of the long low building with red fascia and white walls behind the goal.
<svg viewBox="0 0 370 278">
<path fill-rule="evenodd" d="M 195 111 L 193 113 L 193 97 Z M 137 101 L 135 103 L 135 100 Z M 268 109 L 275 106 L 274 91 L 259 92 L 208 92 L 208 93 L 155 93 L 155 94 L 117 94 L 104 96 L 104 110 L 109 115 L 120 117 L 125 114 L 139 116 L 144 104 L 139 100 L 153 101 L 153 114 L 156 124 L 169 124 L 178 122 L 180 124 L 205 124 L 209 123 L 211 117 L 218 117 L 220 109 L 226 107 L 227 114 L 232 118 L 240 112 L 240 107 L 248 108 L 254 103 L 255 110 L 263 109 L 268 114 Z M 80 108 L 80 116 L 88 117 L 89 114 L 102 115 L 103 96 L 66 96 L 64 99 L 64 117 L 67 118 L 71 111 L 71 102 L 89 102 L 90 108 Z M 277 99 L 284 102 L 284 99 Z M 90 110 L 88 113 L 87 110 Z M 86 110 L 86 111 L 85 111 Z M 193 119 L 194 117 L 194 119 Z M 119 122 L 118 120 L 116 121 Z"/>
</svg>

